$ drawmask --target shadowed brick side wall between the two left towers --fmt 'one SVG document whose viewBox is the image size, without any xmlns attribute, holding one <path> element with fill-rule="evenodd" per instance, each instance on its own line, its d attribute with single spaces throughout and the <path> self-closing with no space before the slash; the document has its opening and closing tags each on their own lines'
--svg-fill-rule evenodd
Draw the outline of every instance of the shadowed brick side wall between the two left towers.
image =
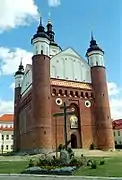
<svg viewBox="0 0 122 180">
<path fill-rule="evenodd" d="M 31 90 L 21 99 L 19 110 L 20 127 L 20 149 L 32 148 L 32 126 L 34 124 L 32 117 L 32 94 Z M 28 139 L 29 138 L 29 139 Z"/>
</svg>

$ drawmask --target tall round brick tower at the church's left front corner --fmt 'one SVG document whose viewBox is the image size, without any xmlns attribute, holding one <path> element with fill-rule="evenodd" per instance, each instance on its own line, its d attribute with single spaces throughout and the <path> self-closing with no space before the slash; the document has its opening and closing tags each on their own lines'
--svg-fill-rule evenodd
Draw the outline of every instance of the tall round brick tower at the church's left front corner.
<svg viewBox="0 0 122 180">
<path fill-rule="evenodd" d="M 37 33 L 31 43 L 34 48 L 32 57 L 32 104 L 33 138 L 37 151 L 50 151 L 51 138 L 51 92 L 50 92 L 50 38 L 45 32 L 40 18 Z"/>
</svg>

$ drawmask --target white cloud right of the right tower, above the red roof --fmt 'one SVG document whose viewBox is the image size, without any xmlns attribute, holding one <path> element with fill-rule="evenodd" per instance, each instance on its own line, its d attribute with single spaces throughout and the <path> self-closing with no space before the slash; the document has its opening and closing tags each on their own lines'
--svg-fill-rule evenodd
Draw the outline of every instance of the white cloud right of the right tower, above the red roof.
<svg viewBox="0 0 122 180">
<path fill-rule="evenodd" d="M 108 83 L 112 119 L 122 119 L 122 88 L 114 82 Z"/>
</svg>

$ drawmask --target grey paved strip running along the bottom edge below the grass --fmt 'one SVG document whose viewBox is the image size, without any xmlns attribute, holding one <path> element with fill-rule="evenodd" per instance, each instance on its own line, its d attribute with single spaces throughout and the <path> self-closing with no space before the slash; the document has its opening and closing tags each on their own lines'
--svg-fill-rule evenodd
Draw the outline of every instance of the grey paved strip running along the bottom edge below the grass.
<svg viewBox="0 0 122 180">
<path fill-rule="evenodd" d="M 33 176 L 33 175 L 0 175 L 0 180 L 122 180 L 122 178 L 109 177 L 73 177 L 73 176 Z"/>
</svg>

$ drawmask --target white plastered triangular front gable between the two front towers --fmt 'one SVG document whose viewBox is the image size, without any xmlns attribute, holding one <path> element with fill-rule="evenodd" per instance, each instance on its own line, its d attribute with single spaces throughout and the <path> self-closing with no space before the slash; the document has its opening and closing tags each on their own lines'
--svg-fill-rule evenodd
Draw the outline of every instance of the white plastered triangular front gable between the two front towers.
<svg viewBox="0 0 122 180">
<path fill-rule="evenodd" d="M 51 78 L 91 82 L 90 66 L 72 48 L 52 57 L 50 72 Z"/>
</svg>

